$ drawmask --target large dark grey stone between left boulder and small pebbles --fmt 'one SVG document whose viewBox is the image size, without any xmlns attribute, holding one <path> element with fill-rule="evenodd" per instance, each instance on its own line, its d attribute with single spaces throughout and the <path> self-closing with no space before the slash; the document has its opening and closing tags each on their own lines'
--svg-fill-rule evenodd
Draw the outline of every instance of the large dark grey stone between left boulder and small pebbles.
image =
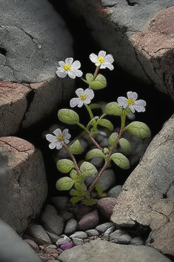
<svg viewBox="0 0 174 262">
<path fill-rule="evenodd" d="M 46 209 L 41 214 L 41 223 L 45 230 L 60 235 L 63 232 L 64 221 L 62 217 L 57 214 L 56 209 L 51 206 L 47 205 Z"/>
</svg>

